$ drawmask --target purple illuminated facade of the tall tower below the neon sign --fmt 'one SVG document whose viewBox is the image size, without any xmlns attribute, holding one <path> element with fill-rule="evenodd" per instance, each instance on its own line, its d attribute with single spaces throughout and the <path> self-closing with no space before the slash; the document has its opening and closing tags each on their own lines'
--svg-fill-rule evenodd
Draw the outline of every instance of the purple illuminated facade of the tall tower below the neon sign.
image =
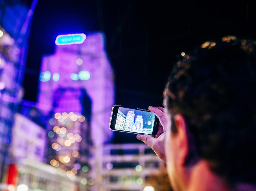
<svg viewBox="0 0 256 191">
<path fill-rule="evenodd" d="M 46 71 L 49 73 L 44 75 Z M 108 123 L 114 104 L 114 75 L 104 50 L 102 33 L 87 35 L 82 44 L 56 46 L 53 55 L 43 57 L 41 76 L 42 81 L 47 81 L 39 84 L 40 108 L 46 113 L 76 112 L 76 109 L 82 114 L 87 106 L 83 105 L 80 98 L 75 98 L 75 93 L 63 98 L 56 91 L 70 88 L 85 90 L 91 100 L 91 111 L 87 113 L 90 113 L 93 144 L 100 145 L 110 141 L 112 131 L 109 131 Z M 54 104 L 60 99 L 64 99 L 62 103 Z"/>
</svg>

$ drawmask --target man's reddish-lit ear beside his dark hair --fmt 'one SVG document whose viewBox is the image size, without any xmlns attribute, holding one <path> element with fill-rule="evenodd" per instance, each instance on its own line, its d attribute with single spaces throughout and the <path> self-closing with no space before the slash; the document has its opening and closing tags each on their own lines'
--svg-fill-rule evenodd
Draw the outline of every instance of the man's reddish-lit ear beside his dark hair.
<svg viewBox="0 0 256 191">
<path fill-rule="evenodd" d="M 188 157 L 188 135 L 187 135 L 187 127 L 184 120 L 184 117 L 181 114 L 177 114 L 174 116 L 174 123 L 177 129 L 175 133 L 175 139 L 177 143 L 179 163 L 184 166 Z"/>
</svg>

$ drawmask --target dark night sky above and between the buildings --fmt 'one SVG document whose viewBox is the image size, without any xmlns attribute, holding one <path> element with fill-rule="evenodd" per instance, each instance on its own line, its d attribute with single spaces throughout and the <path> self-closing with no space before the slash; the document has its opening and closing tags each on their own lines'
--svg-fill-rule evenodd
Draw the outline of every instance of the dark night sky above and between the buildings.
<svg viewBox="0 0 256 191">
<path fill-rule="evenodd" d="M 31 0 L 25 1 L 30 5 Z M 58 34 L 104 32 L 115 71 L 116 104 L 139 108 L 162 104 L 168 74 L 181 52 L 224 35 L 256 39 L 252 3 L 166 2 L 39 0 L 31 27 L 24 99 L 36 101 L 41 57 L 54 52 Z M 127 134 L 116 133 L 114 142 L 136 141 L 135 135 Z"/>
</svg>

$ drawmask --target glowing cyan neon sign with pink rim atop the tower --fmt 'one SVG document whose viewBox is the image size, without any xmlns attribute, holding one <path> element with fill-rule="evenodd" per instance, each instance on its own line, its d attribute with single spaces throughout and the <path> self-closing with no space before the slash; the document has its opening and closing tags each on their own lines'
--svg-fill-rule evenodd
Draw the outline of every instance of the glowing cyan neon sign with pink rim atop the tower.
<svg viewBox="0 0 256 191">
<path fill-rule="evenodd" d="M 82 44 L 86 39 L 84 33 L 58 35 L 55 40 L 56 45 Z"/>
</svg>

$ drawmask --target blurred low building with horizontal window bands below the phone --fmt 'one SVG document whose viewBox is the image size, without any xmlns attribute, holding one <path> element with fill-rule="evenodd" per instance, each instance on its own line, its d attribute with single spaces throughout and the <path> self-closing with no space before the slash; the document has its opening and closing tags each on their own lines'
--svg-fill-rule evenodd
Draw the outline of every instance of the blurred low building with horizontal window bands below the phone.
<svg viewBox="0 0 256 191">
<path fill-rule="evenodd" d="M 100 190 L 104 191 L 142 191 L 151 186 L 147 178 L 165 168 L 165 163 L 145 144 L 104 145 L 102 158 L 99 179 Z"/>
</svg>

